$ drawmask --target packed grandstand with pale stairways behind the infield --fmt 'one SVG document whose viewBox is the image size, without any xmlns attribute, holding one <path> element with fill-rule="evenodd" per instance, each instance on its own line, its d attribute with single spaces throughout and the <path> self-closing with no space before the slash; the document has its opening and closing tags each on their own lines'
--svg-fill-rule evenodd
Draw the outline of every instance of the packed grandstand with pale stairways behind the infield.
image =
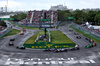
<svg viewBox="0 0 100 66">
<path fill-rule="evenodd" d="M 51 19 L 51 21 L 40 21 L 39 19 L 45 19 L 46 13 L 46 19 Z M 39 24 L 40 22 L 47 22 L 47 23 L 57 23 L 57 11 L 29 11 L 26 17 L 26 22 L 24 23 L 35 23 Z"/>
</svg>

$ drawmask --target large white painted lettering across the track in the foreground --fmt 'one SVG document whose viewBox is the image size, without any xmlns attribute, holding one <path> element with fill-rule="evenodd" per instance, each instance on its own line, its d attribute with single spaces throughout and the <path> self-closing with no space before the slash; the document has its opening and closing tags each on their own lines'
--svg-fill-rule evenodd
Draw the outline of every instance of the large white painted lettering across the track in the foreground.
<svg viewBox="0 0 100 66">
<path fill-rule="evenodd" d="M 57 60 L 58 59 L 58 60 Z M 10 64 L 76 64 L 76 63 L 96 63 L 94 60 L 89 59 L 89 60 L 74 60 L 74 58 L 45 58 L 45 59 L 40 59 L 40 58 L 26 58 L 26 59 L 17 59 L 17 58 L 8 58 L 6 61 L 6 65 Z"/>
</svg>

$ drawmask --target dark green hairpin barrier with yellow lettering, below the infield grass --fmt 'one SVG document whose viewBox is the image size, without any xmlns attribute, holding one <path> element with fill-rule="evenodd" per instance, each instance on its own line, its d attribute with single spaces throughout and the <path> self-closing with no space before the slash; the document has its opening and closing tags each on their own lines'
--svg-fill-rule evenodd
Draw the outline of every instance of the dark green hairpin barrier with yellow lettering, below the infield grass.
<svg viewBox="0 0 100 66">
<path fill-rule="evenodd" d="M 32 49 L 48 49 L 48 48 L 69 48 L 75 47 L 75 43 L 61 43 L 61 44 L 53 44 L 51 42 L 35 42 L 34 44 L 24 44 L 26 48 Z"/>
</svg>

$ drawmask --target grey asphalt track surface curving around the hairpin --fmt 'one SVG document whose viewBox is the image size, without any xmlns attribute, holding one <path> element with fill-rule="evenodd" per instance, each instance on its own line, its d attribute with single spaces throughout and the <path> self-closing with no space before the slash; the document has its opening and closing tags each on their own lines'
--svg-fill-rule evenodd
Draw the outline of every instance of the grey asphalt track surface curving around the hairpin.
<svg viewBox="0 0 100 66">
<path fill-rule="evenodd" d="M 17 49 L 17 45 L 22 45 L 29 37 L 38 30 L 26 30 L 25 35 L 14 35 L 4 37 L 0 40 L 0 66 L 100 66 L 100 45 L 85 49 L 90 44 L 85 37 L 76 39 L 74 31 L 69 32 L 70 24 L 61 26 L 60 30 L 67 35 L 73 42 L 80 46 L 80 50 L 68 52 L 44 52 L 36 49 Z M 11 26 L 13 26 L 11 24 Z M 22 28 L 13 27 L 18 30 Z M 56 30 L 56 29 L 49 29 Z M 15 37 L 14 46 L 8 46 L 10 38 Z"/>
</svg>

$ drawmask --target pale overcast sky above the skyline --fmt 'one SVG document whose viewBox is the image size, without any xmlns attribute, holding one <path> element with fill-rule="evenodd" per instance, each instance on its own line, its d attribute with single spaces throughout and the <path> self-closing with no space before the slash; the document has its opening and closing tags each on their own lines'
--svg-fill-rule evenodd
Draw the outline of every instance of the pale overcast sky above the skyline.
<svg viewBox="0 0 100 66">
<path fill-rule="evenodd" d="M 100 8 L 100 0 L 8 0 L 9 11 L 49 10 L 51 6 L 66 5 L 69 9 Z M 5 7 L 7 0 L 0 0 L 0 7 Z"/>
</svg>

